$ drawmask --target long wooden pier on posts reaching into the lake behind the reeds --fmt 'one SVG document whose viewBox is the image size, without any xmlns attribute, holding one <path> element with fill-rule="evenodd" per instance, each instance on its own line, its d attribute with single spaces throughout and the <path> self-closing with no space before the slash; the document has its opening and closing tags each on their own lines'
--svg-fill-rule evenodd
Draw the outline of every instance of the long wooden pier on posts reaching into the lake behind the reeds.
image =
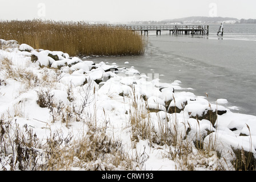
<svg viewBox="0 0 256 182">
<path fill-rule="evenodd" d="M 126 26 L 126 28 L 133 31 L 141 31 L 141 35 L 143 35 L 143 31 L 144 35 L 148 35 L 149 31 L 156 31 L 157 35 L 161 35 L 161 31 L 170 31 L 170 35 L 209 35 L 208 25 L 131 25 Z"/>
</svg>

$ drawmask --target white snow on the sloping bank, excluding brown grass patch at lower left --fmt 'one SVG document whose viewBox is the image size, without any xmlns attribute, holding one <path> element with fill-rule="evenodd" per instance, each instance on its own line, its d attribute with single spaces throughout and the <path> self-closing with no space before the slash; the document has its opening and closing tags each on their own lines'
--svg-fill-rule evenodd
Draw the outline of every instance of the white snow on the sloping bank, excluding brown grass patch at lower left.
<svg viewBox="0 0 256 182">
<path fill-rule="evenodd" d="M 205 97 L 183 91 L 179 80 L 162 83 L 142 75 L 134 67 L 119 68 L 117 63 L 107 65 L 104 62 L 94 64 L 61 51 L 40 49 L 38 52 L 14 40 L 0 39 L 0 43 L 6 45 L 0 50 L 0 114 L 2 118 L 8 117 L 13 126 L 10 136 L 15 136 L 15 127 L 25 133 L 25 126 L 33 129 L 42 145 L 53 133 L 63 137 L 71 133 L 73 139 L 83 134 L 88 135 L 88 140 L 90 133 L 95 136 L 100 133 L 95 138 L 106 134 L 111 140 L 121 141 L 122 150 L 131 156 L 133 169 L 137 170 L 187 169 L 183 158 L 175 157 L 183 152 L 179 144 L 191 147 L 191 152 L 186 154 L 190 158 L 187 162 L 197 170 L 218 168 L 220 162 L 227 170 L 234 169 L 231 165 L 234 150 L 249 151 L 256 157 L 256 116 L 233 113 L 225 107 L 228 103 L 225 98 L 209 103 Z M 58 55 L 59 60 L 49 57 L 49 53 Z M 31 55 L 38 57 L 35 63 Z M 5 57 L 11 60 L 9 69 L 13 72 L 6 70 Z M 23 78 L 27 73 L 30 77 Z M 42 90 L 49 90 L 54 110 L 37 104 Z M 168 107 L 176 106 L 181 113 L 167 113 L 168 103 Z M 218 115 L 214 126 L 206 119 L 191 118 L 203 115 L 206 110 L 226 113 Z M 137 123 L 133 125 L 132 122 Z M 90 129 L 92 126 L 95 130 Z M 166 140 L 162 140 L 165 137 Z M 201 157 L 194 144 L 197 141 L 202 143 L 204 150 L 210 151 L 205 152 L 207 157 Z M 40 154 L 45 152 L 44 148 L 36 150 Z M 109 153 L 106 155 L 109 159 L 113 157 Z M 7 164 L 9 159 L 2 156 L 2 164 Z M 207 165 L 204 165 L 206 159 Z M 80 161 L 74 157 L 74 163 Z M 111 160 L 97 159 L 90 163 L 94 164 L 123 169 L 114 166 Z M 71 169 L 83 170 L 88 163 L 82 167 L 70 165 Z"/>
</svg>

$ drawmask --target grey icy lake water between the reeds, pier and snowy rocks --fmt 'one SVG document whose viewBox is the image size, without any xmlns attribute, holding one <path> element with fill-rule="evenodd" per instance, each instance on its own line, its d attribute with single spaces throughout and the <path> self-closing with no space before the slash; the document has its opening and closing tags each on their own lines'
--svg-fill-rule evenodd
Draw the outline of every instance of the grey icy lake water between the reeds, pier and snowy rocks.
<svg viewBox="0 0 256 182">
<path fill-rule="evenodd" d="M 256 115 L 256 24 L 210 25 L 209 36 L 161 36 L 151 31 L 145 55 L 90 57 L 94 63 L 134 66 L 139 72 L 159 74 L 161 82 L 182 82 L 182 88 L 197 96 L 209 95 L 211 102 L 225 98 L 236 113 Z M 129 64 L 124 64 L 126 61 Z M 233 107 L 235 106 L 235 107 Z"/>
</svg>

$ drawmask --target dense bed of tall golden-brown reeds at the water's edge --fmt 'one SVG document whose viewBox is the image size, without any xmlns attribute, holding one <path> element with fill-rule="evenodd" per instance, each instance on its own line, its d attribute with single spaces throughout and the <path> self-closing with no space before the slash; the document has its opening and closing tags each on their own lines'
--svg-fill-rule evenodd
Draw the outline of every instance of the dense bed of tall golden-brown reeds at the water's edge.
<svg viewBox="0 0 256 182">
<path fill-rule="evenodd" d="M 1 21 L 0 39 L 17 40 L 35 49 L 63 51 L 70 56 L 142 55 L 145 47 L 141 35 L 121 25 L 38 19 Z"/>
</svg>

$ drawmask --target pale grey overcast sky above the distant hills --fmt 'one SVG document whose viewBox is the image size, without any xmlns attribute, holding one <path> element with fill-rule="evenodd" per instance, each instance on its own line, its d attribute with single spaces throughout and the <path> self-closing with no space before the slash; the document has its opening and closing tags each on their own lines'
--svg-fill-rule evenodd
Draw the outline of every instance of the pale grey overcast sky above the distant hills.
<svg viewBox="0 0 256 182">
<path fill-rule="evenodd" d="M 255 0 L 0 0 L 1 20 L 164 20 L 187 16 L 256 19 Z"/>
</svg>

